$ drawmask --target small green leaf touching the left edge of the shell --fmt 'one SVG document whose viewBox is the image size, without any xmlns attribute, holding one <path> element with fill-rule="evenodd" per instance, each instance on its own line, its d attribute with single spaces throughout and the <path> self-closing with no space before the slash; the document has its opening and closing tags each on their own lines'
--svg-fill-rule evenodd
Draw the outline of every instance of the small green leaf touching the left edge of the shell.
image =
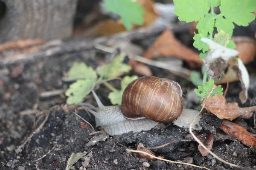
<svg viewBox="0 0 256 170">
<path fill-rule="evenodd" d="M 108 94 L 108 99 L 110 99 L 113 105 L 121 105 L 122 103 L 122 94 L 126 88 L 126 86 L 132 82 L 133 80 L 137 79 L 138 76 L 125 76 L 121 81 L 121 90 L 113 91 Z"/>
</svg>

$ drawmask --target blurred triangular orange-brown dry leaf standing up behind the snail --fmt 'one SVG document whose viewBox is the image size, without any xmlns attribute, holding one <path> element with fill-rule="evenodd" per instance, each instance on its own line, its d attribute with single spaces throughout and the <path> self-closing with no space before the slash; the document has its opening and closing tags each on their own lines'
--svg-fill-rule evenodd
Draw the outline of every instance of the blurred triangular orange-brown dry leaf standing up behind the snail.
<svg viewBox="0 0 256 170">
<path fill-rule="evenodd" d="M 164 31 L 143 56 L 148 59 L 159 56 L 177 57 L 189 62 L 193 67 L 203 64 L 199 55 L 178 41 L 171 30 Z"/>
</svg>

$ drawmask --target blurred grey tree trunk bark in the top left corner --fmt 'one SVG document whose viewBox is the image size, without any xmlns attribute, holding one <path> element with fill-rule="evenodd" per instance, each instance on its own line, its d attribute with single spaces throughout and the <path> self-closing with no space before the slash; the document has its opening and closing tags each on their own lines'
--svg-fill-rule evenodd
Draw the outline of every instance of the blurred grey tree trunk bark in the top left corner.
<svg viewBox="0 0 256 170">
<path fill-rule="evenodd" d="M 0 21 L 0 42 L 70 37 L 77 0 L 2 0 L 6 14 Z"/>
</svg>

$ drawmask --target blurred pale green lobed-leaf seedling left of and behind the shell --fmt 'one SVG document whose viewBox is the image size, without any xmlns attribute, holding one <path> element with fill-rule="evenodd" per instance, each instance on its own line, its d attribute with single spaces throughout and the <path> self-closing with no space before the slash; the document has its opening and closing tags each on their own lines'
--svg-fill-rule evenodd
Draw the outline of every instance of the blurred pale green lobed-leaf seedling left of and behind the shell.
<svg viewBox="0 0 256 170">
<path fill-rule="evenodd" d="M 98 71 L 93 70 L 92 67 L 88 67 L 85 63 L 74 62 L 72 67 L 67 73 L 68 80 L 74 80 L 66 91 L 67 104 L 75 104 L 81 102 L 87 94 L 90 93 L 90 89 L 94 88 L 96 84 L 103 83 L 112 92 L 108 95 L 113 105 L 121 105 L 122 93 L 125 87 L 137 76 L 125 76 L 121 80 L 121 89 L 117 90 L 107 81 L 108 79 L 115 79 L 121 76 L 123 73 L 127 73 L 131 70 L 131 66 L 122 63 L 125 56 L 116 56 L 111 63 L 102 65 Z"/>
</svg>

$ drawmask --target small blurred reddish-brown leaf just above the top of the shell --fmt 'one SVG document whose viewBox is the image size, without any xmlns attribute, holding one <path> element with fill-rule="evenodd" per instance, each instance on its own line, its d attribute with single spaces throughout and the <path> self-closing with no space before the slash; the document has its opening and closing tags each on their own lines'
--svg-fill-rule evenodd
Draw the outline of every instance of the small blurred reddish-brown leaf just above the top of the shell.
<svg viewBox="0 0 256 170">
<path fill-rule="evenodd" d="M 148 66 L 141 62 L 137 62 L 134 59 L 130 59 L 129 65 L 131 65 L 132 70 L 136 74 L 143 75 L 143 76 L 152 76 L 152 72 L 148 68 Z"/>
</svg>

